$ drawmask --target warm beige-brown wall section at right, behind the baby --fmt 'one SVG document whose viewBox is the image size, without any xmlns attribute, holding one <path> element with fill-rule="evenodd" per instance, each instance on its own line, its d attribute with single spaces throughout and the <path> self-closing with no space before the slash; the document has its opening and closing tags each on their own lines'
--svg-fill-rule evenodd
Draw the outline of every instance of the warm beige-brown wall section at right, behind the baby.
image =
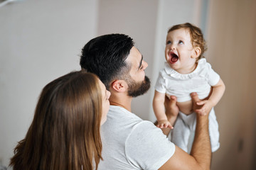
<svg viewBox="0 0 256 170">
<path fill-rule="evenodd" d="M 256 169 L 256 1 L 210 1 L 208 58 L 225 82 L 213 170 Z"/>
</svg>

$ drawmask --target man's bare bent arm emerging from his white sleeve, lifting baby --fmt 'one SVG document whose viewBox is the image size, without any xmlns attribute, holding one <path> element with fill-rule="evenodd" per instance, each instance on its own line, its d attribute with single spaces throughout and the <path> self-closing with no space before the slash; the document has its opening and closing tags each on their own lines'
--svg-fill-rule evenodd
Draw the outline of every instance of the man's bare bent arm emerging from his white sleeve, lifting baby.
<svg viewBox="0 0 256 170">
<path fill-rule="evenodd" d="M 196 105 L 199 98 L 196 93 L 191 94 L 193 110 L 200 106 Z M 196 135 L 194 138 L 191 155 L 176 146 L 174 155 L 163 165 L 161 169 L 210 169 L 211 149 L 208 131 L 208 115 L 196 116 Z"/>
</svg>

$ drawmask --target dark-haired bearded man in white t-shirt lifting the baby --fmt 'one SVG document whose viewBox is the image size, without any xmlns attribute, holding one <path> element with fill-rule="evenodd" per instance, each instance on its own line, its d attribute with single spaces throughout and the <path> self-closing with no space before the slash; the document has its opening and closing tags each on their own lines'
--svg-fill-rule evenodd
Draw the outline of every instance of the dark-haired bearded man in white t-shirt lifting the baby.
<svg viewBox="0 0 256 170">
<path fill-rule="evenodd" d="M 153 123 L 131 113 L 132 98 L 150 87 L 144 72 L 148 64 L 134 47 L 132 38 L 111 34 L 90 40 L 82 49 L 80 65 L 97 74 L 111 92 L 110 111 L 102 125 L 103 160 L 98 169 L 210 169 L 208 115 L 197 116 L 189 155 L 171 143 Z M 196 94 L 192 98 L 199 101 Z M 173 125 L 178 108 L 166 111 Z"/>
</svg>

